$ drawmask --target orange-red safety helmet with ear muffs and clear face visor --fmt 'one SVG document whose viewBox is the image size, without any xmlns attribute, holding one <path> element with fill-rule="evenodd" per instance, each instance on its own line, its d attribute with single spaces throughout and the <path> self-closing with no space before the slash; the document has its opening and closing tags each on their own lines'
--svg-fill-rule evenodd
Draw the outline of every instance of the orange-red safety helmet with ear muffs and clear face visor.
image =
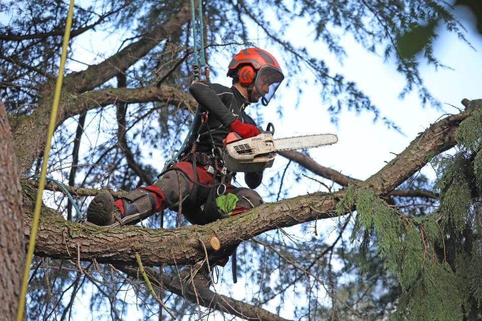
<svg viewBox="0 0 482 321">
<path fill-rule="evenodd" d="M 243 86 L 248 87 L 249 96 L 251 96 L 253 87 L 256 87 L 262 97 L 261 102 L 265 106 L 273 98 L 284 78 L 280 64 L 275 57 L 259 48 L 247 48 L 239 51 L 227 68 L 227 76 L 238 78 Z"/>
</svg>

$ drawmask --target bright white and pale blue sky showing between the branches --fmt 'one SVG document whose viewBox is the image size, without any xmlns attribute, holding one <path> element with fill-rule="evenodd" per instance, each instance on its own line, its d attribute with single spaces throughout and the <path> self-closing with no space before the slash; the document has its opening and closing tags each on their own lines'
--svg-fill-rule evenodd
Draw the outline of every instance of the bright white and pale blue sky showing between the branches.
<svg viewBox="0 0 482 321">
<path fill-rule="evenodd" d="M 442 105 L 443 110 L 430 106 L 420 108 L 421 102 L 416 92 L 400 99 L 398 96 L 406 81 L 403 75 L 395 70 L 393 62 L 389 60 L 383 63 L 384 58 L 381 55 L 366 51 L 350 35 L 341 38 L 341 44 L 347 52 L 347 57 L 342 64 L 333 54 L 327 51 L 324 45 L 311 41 L 313 33 L 306 30 L 302 24 L 296 24 L 285 35 L 295 46 L 306 46 L 306 42 L 310 41 L 309 52 L 314 56 L 325 59 L 332 71 L 341 73 L 347 80 L 356 82 L 357 86 L 380 108 L 382 115 L 388 116 L 400 126 L 403 134 L 388 129 L 382 122 L 374 123 L 373 114 L 368 112 L 356 115 L 353 112 L 343 111 L 339 115 L 338 124 L 331 123 L 326 112 L 327 107 L 319 98 L 318 89 L 312 85 L 307 85 L 304 94 L 298 97 L 295 88 L 286 88 L 282 84 L 278 89 L 278 93 L 282 92 L 282 95 L 275 95 L 269 106 L 260 109 L 265 119 L 265 123 L 260 125 L 266 127 L 268 121 L 273 122 L 276 127 L 275 138 L 314 133 L 335 133 L 338 135 L 338 143 L 310 150 L 313 159 L 325 167 L 341 171 L 344 175 L 357 179 L 370 177 L 380 170 L 385 162 L 394 157 L 392 152 L 402 151 L 419 132 L 439 117 L 446 113 L 458 113 L 456 108 L 448 104 L 463 108 L 460 104 L 463 98 L 482 98 L 482 92 L 480 91 L 482 63 L 479 54 L 482 51 L 482 36 L 475 32 L 474 18 L 468 10 L 457 7 L 456 15 L 462 19 L 464 26 L 467 28 L 468 41 L 475 50 L 457 39 L 456 35 L 448 33 L 443 27 L 439 26 L 436 30 L 439 38 L 434 45 L 435 56 L 453 69 L 435 70 L 433 66 L 427 66 L 423 62 L 421 66 L 421 75 L 429 91 L 441 103 L 447 103 Z M 79 36 L 75 38 L 72 46 L 73 58 L 85 63 L 98 62 L 117 50 L 118 39 L 126 36 L 129 36 L 126 31 L 107 34 L 99 30 L 95 34 L 87 33 Z M 258 46 L 267 49 L 276 56 L 276 50 L 263 40 L 260 41 Z M 383 44 L 380 48 L 383 50 Z M 230 57 L 227 55 L 212 57 L 212 61 L 216 62 L 216 66 L 213 67 L 224 69 L 229 59 Z M 280 63 L 283 66 L 284 62 L 280 61 Z M 70 70 L 83 70 L 85 65 L 70 61 L 68 68 Z M 313 76 L 309 71 L 305 75 L 308 80 L 312 80 Z M 285 75 L 286 78 L 290 76 L 292 75 Z M 222 72 L 212 81 L 225 85 L 230 83 L 230 79 L 226 79 Z M 295 108 L 298 99 L 299 104 Z M 283 106 L 282 118 L 277 113 L 279 106 Z M 248 113 L 250 113 L 249 110 Z M 86 152 L 89 147 L 85 144 L 83 148 Z M 158 157 L 148 159 L 148 162 L 159 170 L 164 165 L 163 161 L 159 162 Z M 286 159 L 278 156 L 273 168 L 267 170 L 265 177 L 283 171 L 287 162 Z M 292 171 L 294 171 L 294 167 L 291 167 L 286 186 L 292 186 L 295 178 Z M 434 178 L 433 170 L 430 167 L 426 167 L 423 173 L 430 178 Z M 316 179 L 320 180 L 319 177 Z M 266 181 L 264 183 L 267 184 Z M 326 183 L 330 185 L 329 181 L 326 181 Z M 303 179 L 293 186 L 294 188 L 288 190 L 288 197 L 324 189 L 319 183 L 309 179 Z M 263 196 L 263 191 L 261 191 L 261 194 Z M 273 200 L 268 199 L 267 201 Z M 335 233 L 330 234 L 329 232 L 333 230 L 333 226 L 332 221 L 322 222 L 321 229 L 325 231 L 322 237 L 332 238 Z M 234 297 L 240 297 L 239 292 L 245 289 L 244 282 L 245 280 L 241 277 L 238 284 L 233 288 Z M 226 283 L 230 285 L 230 280 Z M 79 308 L 85 305 L 85 302 L 82 303 L 81 300 L 78 303 L 80 304 Z M 282 316 L 291 317 L 289 311 L 293 306 L 292 304 L 295 303 L 290 303 L 288 299 L 286 304 Z M 99 313 L 103 313 L 103 311 Z M 139 316 L 138 313 L 135 309 L 129 310 L 129 318 Z M 94 312 L 92 317 L 96 314 Z"/>
</svg>

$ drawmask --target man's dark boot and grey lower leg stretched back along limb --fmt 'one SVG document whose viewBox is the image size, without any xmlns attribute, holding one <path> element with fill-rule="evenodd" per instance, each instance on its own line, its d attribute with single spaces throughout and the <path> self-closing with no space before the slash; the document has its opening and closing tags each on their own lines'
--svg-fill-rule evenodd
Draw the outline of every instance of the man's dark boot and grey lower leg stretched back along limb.
<svg viewBox="0 0 482 321">
<path fill-rule="evenodd" d="M 97 194 L 87 208 L 87 222 L 101 226 L 136 224 L 155 212 L 156 200 L 151 193 L 137 189 L 114 202 L 110 194 Z"/>
</svg>

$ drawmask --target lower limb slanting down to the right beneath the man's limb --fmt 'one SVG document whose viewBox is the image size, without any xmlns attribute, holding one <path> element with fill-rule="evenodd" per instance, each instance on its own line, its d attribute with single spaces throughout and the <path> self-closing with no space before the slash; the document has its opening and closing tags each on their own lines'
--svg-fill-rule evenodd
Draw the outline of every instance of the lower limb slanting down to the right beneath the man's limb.
<svg viewBox="0 0 482 321">
<path fill-rule="evenodd" d="M 128 274 L 131 277 L 138 278 L 138 268 L 134 266 L 120 266 L 116 265 L 116 268 L 123 271 L 124 273 Z M 162 285 L 159 282 L 161 279 L 159 276 L 159 271 L 153 268 L 145 268 L 149 275 L 149 280 L 151 283 L 156 286 L 162 286 L 163 289 L 167 289 L 168 291 L 177 294 L 179 296 L 183 296 L 189 301 L 195 302 L 196 299 L 193 297 L 189 297 L 188 295 L 182 294 L 182 287 L 181 282 L 179 282 L 179 277 L 177 275 L 169 275 L 166 273 L 162 274 Z M 219 310 L 221 312 L 226 312 L 232 314 L 234 316 L 242 317 L 244 319 L 250 320 L 266 320 L 266 321 L 287 321 L 287 319 L 280 317 L 274 313 L 271 313 L 268 310 L 265 310 L 261 307 L 254 306 L 248 303 L 245 303 L 240 300 L 233 299 L 231 297 L 218 294 L 216 292 L 211 291 L 209 288 L 202 286 L 201 284 L 194 281 L 196 286 L 199 304 L 205 307 L 209 307 L 212 309 Z"/>
</svg>

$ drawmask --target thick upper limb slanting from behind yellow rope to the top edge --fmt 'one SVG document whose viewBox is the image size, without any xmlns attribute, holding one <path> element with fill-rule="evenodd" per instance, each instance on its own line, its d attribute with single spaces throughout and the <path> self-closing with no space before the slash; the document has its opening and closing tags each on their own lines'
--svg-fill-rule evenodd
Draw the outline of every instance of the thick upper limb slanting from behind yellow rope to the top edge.
<svg viewBox="0 0 482 321">
<path fill-rule="evenodd" d="M 67 75 L 64 78 L 57 112 L 57 124 L 62 123 L 72 114 L 88 110 L 85 105 L 79 108 L 76 104 L 73 104 L 73 100 L 76 97 L 72 96 L 72 94 L 80 94 L 92 90 L 119 72 L 127 70 L 172 32 L 181 28 L 189 18 L 189 2 L 183 0 L 177 14 L 171 16 L 166 22 L 154 28 L 153 31 L 147 33 L 137 42 L 130 44 L 97 65 L 92 65 L 84 71 Z M 39 107 L 32 114 L 23 115 L 20 119 L 16 119 L 16 126 L 13 126 L 16 154 L 19 159 L 21 173 L 28 171 L 45 143 L 45 133 L 48 120 L 50 119 L 53 87 L 53 81 L 44 84 L 40 94 L 42 98 L 40 99 Z M 112 98 L 113 96 L 110 95 L 110 97 Z M 84 98 L 88 98 L 88 95 L 84 96 Z M 95 100 L 90 101 L 89 106 L 95 106 L 95 104 L 92 104 L 94 102 Z"/>
</svg>

